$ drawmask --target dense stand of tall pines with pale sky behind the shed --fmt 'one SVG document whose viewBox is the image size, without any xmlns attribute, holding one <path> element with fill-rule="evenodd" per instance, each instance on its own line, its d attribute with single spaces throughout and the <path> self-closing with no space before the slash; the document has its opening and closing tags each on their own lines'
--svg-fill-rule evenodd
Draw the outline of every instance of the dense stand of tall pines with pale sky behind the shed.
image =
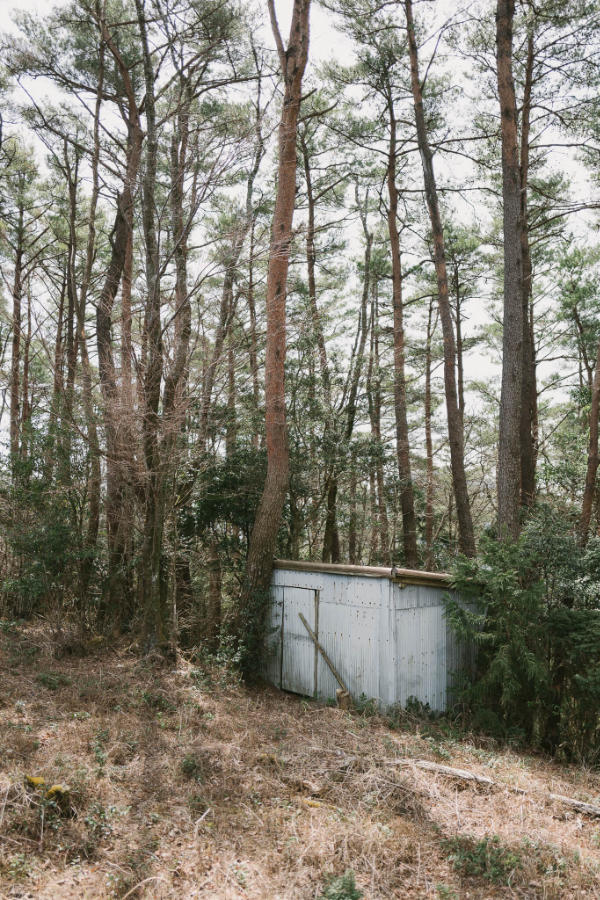
<svg viewBox="0 0 600 900">
<path fill-rule="evenodd" d="M 309 42 L 308 0 L 15 14 L 4 614 L 240 652 L 274 554 L 460 554 L 498 621 L 527 598 L 513 637 L 597 606 L 597 4 L 310 15 Z M 536 669 L 548 634 L 511 644 L 536 702 L 592 658 Z"/>
</svg>

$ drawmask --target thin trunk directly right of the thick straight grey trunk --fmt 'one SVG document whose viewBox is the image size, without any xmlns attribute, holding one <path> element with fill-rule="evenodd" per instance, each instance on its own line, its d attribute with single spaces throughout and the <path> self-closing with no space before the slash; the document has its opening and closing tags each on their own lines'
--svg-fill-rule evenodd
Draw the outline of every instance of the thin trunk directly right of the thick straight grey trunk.
<svg viewBox="0 0 600 900">
<path fill-rule="evenodd" d="M 521 256 L 523 261 L 523 377 L 521 386 L 521 505 L 532 506 L 535 499 L 536 436 L 535 421 L 537 387 L 533 333 L 532 268 L 529 247 L 527 193 L 529 178 L 529 133 L 531 120 L 531 88 L 533 82 L 534 42 L 530 30 L 527 38 L 525 87 L 521 112 Z"/>
</svg>

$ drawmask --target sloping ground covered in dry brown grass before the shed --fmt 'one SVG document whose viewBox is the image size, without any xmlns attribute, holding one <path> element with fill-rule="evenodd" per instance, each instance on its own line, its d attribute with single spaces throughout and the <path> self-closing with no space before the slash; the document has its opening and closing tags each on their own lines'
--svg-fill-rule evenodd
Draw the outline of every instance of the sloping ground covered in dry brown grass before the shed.
<svg viewBox="0 0 600 900">
<path fill-rule="evenodd" d="M 125 644 L 51 651 L 0 621 L 2 898 L 600 897 L 600 820 L 548 796 L 597 801 L 597 772 Z"/>
</svg>

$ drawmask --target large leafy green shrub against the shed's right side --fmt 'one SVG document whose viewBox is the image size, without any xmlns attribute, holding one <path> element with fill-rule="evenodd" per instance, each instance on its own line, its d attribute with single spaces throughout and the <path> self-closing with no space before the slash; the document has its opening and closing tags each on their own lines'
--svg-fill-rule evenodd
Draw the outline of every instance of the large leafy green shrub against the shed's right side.
<svg viewBox="0 0 600 900">
<path fill-rule="evenodd" d="M 473 728 L 569 760 L 600 755 L 600 551 L 546 512 L 516 543 L 484 537 L 459 561 L 451 625 L 475 645 L 461 700 Z"/>
</svg>

